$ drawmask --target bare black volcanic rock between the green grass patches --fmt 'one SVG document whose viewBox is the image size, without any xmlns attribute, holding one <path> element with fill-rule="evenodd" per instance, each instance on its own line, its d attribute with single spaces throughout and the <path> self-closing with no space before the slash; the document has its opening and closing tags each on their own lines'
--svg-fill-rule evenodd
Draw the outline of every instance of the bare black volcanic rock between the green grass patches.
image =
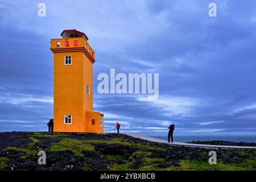
<svg viewBox="0 0 256 182">
<path fill-rule="evenodd" d="M 44 133 L 43 133 L 44 134 Z M 43 136 L 42 134 L 42 136 Z M 118 167 L 121 164 L 130 164 L 131 169 L 140 169 L 146 165 L 155 164 L 159 168 L 178 167 L 181 160 L 199 160 L 208 163 L 209 151 L 217 152 L 217 162 L 223 164 L 233 164 L 239 167 L 256 168 L 254 164 L 243 163 L 246 159 L 256 158 L 256 150 L 254 149 L 209 149 L 185 146 L 170 146 L 169 144 L 149 142 L 139 138 L 133 138 L 123 134 L 79 134 L 65 133 L 63 137 L 56 135 L 54 137 L 36 137 L 33 133 L 0 133 L 0 158 L 6 158 L 7 167 L 5 170 L 108 170 Z M 55 133 L 47 133 L 47 135 L 55 135 Z M 46 136 L 47 136 L 46 135 Z M 28 144 L 33 141 L 33 137 L 38 139 L 32 145 Z M 77 140 L 112 140 L 118 139 L 120 142 L 111 144 L 108 142 L 92 142 L 93 151 L 84 150 L 82 155 L 75 155 L 71 150 L 72 145 L 68 146 L 71 150 L 49 151 L 49 147 L 53 143 L 60 142 L 63 138 Z M 122 144 L 123 142 L 123 144 Z M 127 145 L 126 142 L 131 143 Z M 215 143 L 214 143 L 215 142 Z M 225 142 L 220 142 L 224 144 Z M 220 144 L 213 141 L 212 144 Z M 210 144 L 210 143 L 207 143 Z M 228 144 L 228 143 L 225 143 Z M 232 143 L 229 143 L 232 144 Z M 144 145 L 142 148 L 141 146 Z M 5 150 L 6 147 L 17 147 L 18 150 Z M 76 145 L 74 147 L 77 147 Z M 19 151 L 19 148 L 23 148 Z M 46 151 L 46 165 L 38 164 L 39 148 Z M 27 151 L 23 152 L 23 151 Z M 74 148 L 75 151 L 75 148 Z M 75 151 L 77 152 L 77 151 Z M 80 152 L 80 151 L 79 151 Z M 108 155 L 108 156 L 107 156 Z M 110 156 L 121 155 L 121 156 Z M 149 159 L 156 160 L 149 160 Z M 159 158 L 160 160 L 158 160 Z M 164 159 L 164 161 L 163 161 Z M 111 165 L 110 165 L 111 164 Z M 127 167 L 127 166 L 126 166 Z"/>
</svg>

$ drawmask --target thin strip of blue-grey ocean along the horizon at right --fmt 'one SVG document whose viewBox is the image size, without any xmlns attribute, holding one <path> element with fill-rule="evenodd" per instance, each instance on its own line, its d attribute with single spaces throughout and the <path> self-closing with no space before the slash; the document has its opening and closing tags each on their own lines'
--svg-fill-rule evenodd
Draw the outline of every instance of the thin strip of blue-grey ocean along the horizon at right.
<svg viewBox="0 0 256 182">
<path fill-rule="evenodd" d="M 153 138 L 167 140 L 167 136 L 149 136 Z M 212 140 L 225 140 L 230 142 L 254 142 L 256 143 L 256 136 L 252 137 L 236 137 L 236 136 L 191 136 L 191 137 L 181 137 L 181 136 L 174 136 L 174 142 L 193 142 L 193 140 L 197 141 L 212 141 Z"/>
</svg>

